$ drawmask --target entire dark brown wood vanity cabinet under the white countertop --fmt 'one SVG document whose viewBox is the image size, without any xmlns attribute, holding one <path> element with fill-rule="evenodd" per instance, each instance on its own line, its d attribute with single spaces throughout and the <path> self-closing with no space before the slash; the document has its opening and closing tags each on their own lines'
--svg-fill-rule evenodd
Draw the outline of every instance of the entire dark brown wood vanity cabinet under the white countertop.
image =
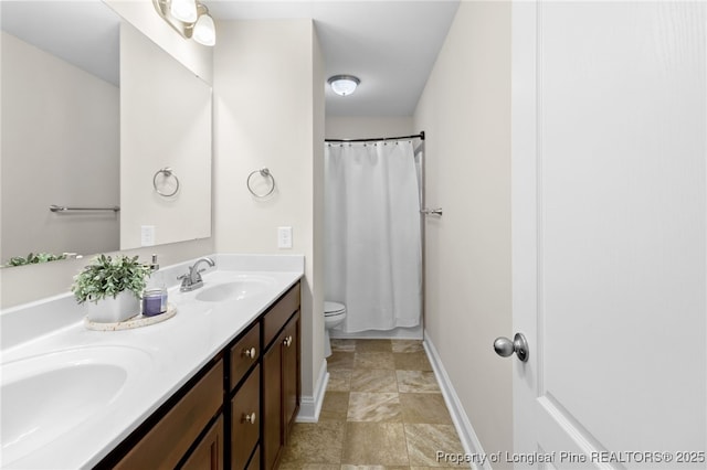
<svg viewBox="0 0 707 470">
<path fill-rule="evenodd" d="M 300 398 L 299 282 L 96 468 L 273 469 Z"/>
</svg>

